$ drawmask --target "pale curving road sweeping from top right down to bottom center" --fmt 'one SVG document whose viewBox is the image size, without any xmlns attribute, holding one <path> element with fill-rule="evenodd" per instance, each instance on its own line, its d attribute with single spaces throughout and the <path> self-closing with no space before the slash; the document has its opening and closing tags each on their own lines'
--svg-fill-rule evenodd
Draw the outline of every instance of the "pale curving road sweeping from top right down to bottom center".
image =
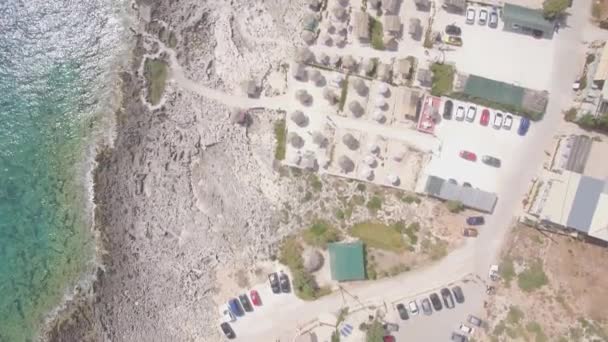
<svg viewBox="0 0 608 342">
<path fill-rule="evenodd" d="M 420 293 L 427 293 L 431 289 L 439 288 L 447 283 L 459 280 L 471 273 L 485 279 L 489 265 L 496 261 L 501 244 L 512 223 L 513 215 L 520 208 L 520 201 L 530 186 L 530 181 L 542 167 L 543 151 L 548 146 L 556 132 L 561 118 L 561 110 L 571 103 L 572 92 L 570 86 L 576 78 L 579 66 L 572 63 L 577 60 L 575 56 L 584 53 L 583 30 L 586 29 L 590 0 L 579 0 L 576 8 L 571 11 L 569 27 L 562 29 L 556 38 L 554 70 L 552 86 L 549 89 L 550 101 L 547 114 L 540 123 L 532 126 L 527 139 L 528 148 L 515 162 L 521 167 L 505 175 L 498 186 L 499 202 L 493 215 L 488 217 L 486 227 L 481 230 L 476 240 L 469 240 L 460 249 L 450 253 L 440 262 L 429 267 L 409 272 L 395 278 L 384 279 L 373 283 L 360 283 L 345 285 L 348 292 L 365 303 L 392 303 L 397 300 L 407 300 L 404 294 L 411 297 Z M 597 31 L 594 31 L 597 34 Z M 573 58 L 574 57 L 574 58 Z M 484 300 L 483 287 L 481 292 L 473 296 L 470 311 L 481 310 Z M 335 312 L 342 305 L 351 307 L 357 301 L 341 293 L 334 293 L 315 302 L 291 301 L 291 305 L 277 305 L 268 308 L 265 317 L 268 319 L 255 319 L 255 324 L 241 324 L 237 322 L 235 329 L 242 341 L 281 341 L 293 339 L 294 331 L 307 322 L 314 320 L 321 313 Z M 389 304 L 390 305 L 390 304 Z M 477 310 L 475 306 L 477 305 Z M 389 310 L 390 312 L 390 310 Z M 455 311 L 456 312 L 456 311 Z M 454 317 L 452 317 L 454 315 Z M 437 315 L 444 328 L 418 329 L 416 334 L 420 339 L 429 339 L 433 335 L 449 337 L 451 329 L 457 327 L 456 321 L 464 319 L 465 313 Z M 443 319 L 440 319 L 443 317 Z M 428 320 L 431 322 L 432 320 Z M 448 331 L 443 331 L 447 329 Z M 425 335 L 424 331 L 428 331 Z M 438 332 L 441 331 L 441 332 Z M 430 335 L 429 335 L 430 334 Z M 418 336 L 416 335 L 416 336 Z M 439 335 L 437 335 L 439 336 Z"/>
</svg>

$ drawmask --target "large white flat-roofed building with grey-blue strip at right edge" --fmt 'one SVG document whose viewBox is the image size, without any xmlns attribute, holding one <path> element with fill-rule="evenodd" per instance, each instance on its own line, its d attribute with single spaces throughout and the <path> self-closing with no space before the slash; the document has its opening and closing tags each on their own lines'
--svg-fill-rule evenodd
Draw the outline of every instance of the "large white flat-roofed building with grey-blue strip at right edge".
<svg viewBox="0 0 608 342">
<path fill-rule="evenodd" d="M 608 181 L 567 170 L 549 173 L 528 213 L 542 224 L 608 241 Z"/>
</svg>

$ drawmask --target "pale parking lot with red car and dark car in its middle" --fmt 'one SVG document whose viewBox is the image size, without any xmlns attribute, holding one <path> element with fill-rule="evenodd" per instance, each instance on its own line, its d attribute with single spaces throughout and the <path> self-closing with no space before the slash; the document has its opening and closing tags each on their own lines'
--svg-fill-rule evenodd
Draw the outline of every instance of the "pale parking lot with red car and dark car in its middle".
<svg viewBox="0 0 608 342">
<path fill-rule="evenodd" d="M 440 113 L 443 113 L 447 99 L 442 98 L 442 100 Z M 508 179 L 504 176 L 516 170 L 516 156 L 525 148 L 526 136 L 517 134 L 520 117 L 513 115 L 513 125 L 510 130 L 496 129 L 493 127 L 496 111 L 488 108 L 489 123 L 487 126 L 482 126 L 479 121 L 486 107 L 458 100 L 452 102 L 454 113 L 459 106 L 464 107 L 465 112 L 470 106 L 475 106 L 477 114 L 473 122 L 468 122 L 466 119 L 458 121 L 455 114 L 451 120 L 441 120 L 435 128 L 435 135 L 441 141 L 441 150 L 433 155 L 424 172 L 444 179 L 454 179 L 458 184 L 467 182 L 472 187 L 484 191 L 500 193 L 508 189 L 506 185 L 500 183 L 500 180 Z M 527 134 L 533 129 L 532 123 Z M 477 161 L 460 157 L 459 153 L 462 150 L 475 153 Z M 501 166 L 497 168 L 484 164 L 481 161 L 484 155 L 500 159 Z"/>
</svg>

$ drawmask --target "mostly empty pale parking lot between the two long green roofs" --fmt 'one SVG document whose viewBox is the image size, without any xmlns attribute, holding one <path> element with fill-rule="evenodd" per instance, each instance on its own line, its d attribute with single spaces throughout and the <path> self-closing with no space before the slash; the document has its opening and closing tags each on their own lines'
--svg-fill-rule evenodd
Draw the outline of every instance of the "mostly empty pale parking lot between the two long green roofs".
<svg viewBox="0 0 608 342">
<path fill-rule="evenodd" d="M 445 60 L 455 63 L 461 73 L 469 73 L 537 90 L 550 88 L 555 39 L 535 39 L 531 36 L 503 31 L 498 27 L 479 25 L 480 6 L 475 24 L 466 24 L 464 15 L 437 12 L 433 27 L 444 33 L 446 25 L 462 29 L 462 47 L 446 45 Z M 485 7 L 488 12 L 490 7 Z M 499 16 L 500 17 L 500 16 Z"/>
</svg>

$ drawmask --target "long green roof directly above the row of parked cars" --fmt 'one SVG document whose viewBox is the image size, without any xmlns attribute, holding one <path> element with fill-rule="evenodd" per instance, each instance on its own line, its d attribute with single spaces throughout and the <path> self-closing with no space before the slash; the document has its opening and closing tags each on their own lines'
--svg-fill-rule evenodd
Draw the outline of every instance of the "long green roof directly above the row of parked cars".
<svg viewBox="0 0 608 342">
<path fill-rule="evenodd" d="M 513 84 L 470 75 L 464 86 L 464 94 L 473 98 L 486 99 L 502 105 L 521 108 L 525 89 Z"/>
</svg>

